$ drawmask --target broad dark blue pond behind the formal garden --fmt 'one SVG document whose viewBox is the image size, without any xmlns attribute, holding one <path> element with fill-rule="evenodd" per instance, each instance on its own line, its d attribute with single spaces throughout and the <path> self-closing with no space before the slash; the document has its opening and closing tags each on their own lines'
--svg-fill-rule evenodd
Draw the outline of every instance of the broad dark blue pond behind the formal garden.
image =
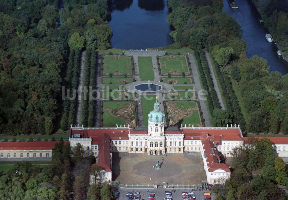
<svg viewBox="0 0 288 200">
<path fill-rule="evenodd" d="M 113 48 L 145 49 L 173 44 L 164 0 L 113 0 L 110 5 Z"/>
</svg>

